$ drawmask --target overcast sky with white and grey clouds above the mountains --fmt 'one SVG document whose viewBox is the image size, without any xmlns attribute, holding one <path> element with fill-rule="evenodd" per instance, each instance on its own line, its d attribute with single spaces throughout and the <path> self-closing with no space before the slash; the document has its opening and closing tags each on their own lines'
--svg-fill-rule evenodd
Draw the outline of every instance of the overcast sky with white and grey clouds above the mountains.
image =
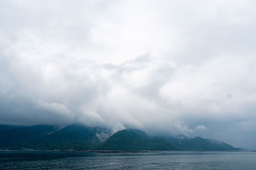
<svg viewBox="0 0 256 170">
<path fill-rule="evenodd" d="M 256 149 L 256 2 L 0 2 L 0 124 Z"/>
</svg>

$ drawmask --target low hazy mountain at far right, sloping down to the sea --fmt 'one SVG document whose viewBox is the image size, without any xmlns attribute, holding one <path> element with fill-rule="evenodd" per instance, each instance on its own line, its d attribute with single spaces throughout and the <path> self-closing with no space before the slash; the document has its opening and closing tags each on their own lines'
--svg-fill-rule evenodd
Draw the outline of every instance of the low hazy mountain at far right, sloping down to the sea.
<svg viewBox="0 0 256 170">
<path fill-rule="evenodd" d="M 212 139 L 204 139 L 200 137 L 196 138 L 186 138 L 185 136 L 180 136 L 179 138 L 164 138 L 168 143 L 173 146 L 182 148 L 183 150 L 198 150 L 198 151 L 224 151 L 224 150 L 241 150 L 239 148 L 234 148 L 227 143 L 221 141 L 216 141 Z"/>
</svg>

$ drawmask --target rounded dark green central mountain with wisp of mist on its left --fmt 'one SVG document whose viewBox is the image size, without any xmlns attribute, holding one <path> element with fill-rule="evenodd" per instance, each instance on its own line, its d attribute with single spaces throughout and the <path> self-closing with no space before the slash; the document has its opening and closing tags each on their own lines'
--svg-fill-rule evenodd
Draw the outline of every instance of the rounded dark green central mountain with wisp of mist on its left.
<svg viewBox="0 0 256 170">
<path fill-rule="evenodd" d="M 143 131 L 125 129 L 110 136 L 99 150 L 178 150 L 163 139 L 149 138 Z"/>
</svg>

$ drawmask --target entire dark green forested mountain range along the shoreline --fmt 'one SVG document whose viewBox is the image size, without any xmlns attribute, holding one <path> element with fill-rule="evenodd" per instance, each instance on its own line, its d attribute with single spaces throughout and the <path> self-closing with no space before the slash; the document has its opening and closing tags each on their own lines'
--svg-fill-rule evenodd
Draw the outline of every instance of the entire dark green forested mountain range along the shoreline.
<svg viewBox="0 0 256 170">
<path fill-rule="evenodd" d="M 221 141 L 200 137 L 157 138 L 150 137 L 138 129 L 124 129 L 111 133 L 109 129 L 76 124 L 68 125 L 62 129 L 54 125 L 34 125 L 30 127 L 1 125 L 0 149 L 55 151 L 241 150 Z"/>
</svg>

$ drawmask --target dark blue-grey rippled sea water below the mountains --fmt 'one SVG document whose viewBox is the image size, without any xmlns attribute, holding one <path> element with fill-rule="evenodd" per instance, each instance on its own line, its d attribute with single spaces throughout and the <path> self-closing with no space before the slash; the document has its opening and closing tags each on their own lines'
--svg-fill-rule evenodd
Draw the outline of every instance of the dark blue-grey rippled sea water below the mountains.
<svg viewBox="0 0 256 170">
<path fill-rule="evenodd" d="M 0 169 L 256 169 L 256 152 L 0 152 Z"/>
</svg>

